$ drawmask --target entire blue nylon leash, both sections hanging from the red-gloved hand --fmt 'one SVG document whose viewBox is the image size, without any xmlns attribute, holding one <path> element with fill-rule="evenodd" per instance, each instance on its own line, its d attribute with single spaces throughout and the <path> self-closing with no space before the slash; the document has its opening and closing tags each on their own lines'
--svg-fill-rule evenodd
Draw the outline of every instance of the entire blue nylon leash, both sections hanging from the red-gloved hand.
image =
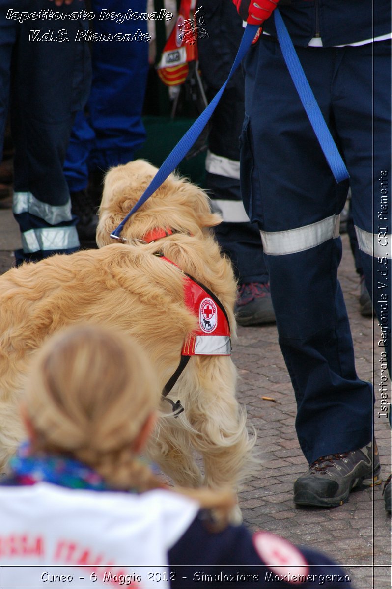
<svg viewBox="0 0 392 589">
<path fill-rule="evenodd" d="M 274 12 L 276 33 L 278 34 L 279 44 L 281 45 L 282 54 L 285 59 L 288 70 L 291 74 L 295 88 L 301 98 L 301 102 L 304 105 L 305 111 L 307 112 L 309 121 L 317 135 L 319 144 L 321 145 L 322 151 L 324 152 L 325 158 L 327 158 L 328 164 L 331 168 L 332 174 L 337 182 L 346 180 L 348 176 L 347 168 L 344 165 L 344 161 L 341 158 L 338 148 L 332 138 L 330 130 L 325 123 L 324 117 L 322 116 L 321 110 L 315 100 L 314 94 L 309 86 L 309 82 L 305 76 L 304 70 L 299 62 L 298 55 L 295 52 L 294 45 L 291 42 L 288 31 L 284 24 L 281 14 L 278 9 Z M 241 63 L 243 57 L 245 57 L 253 38 L 258 31 L 258 25 L 246 25 L 241 44 L 239 46 L 236 58 L 233 62 L 232 68 L 228 75 L 228 79 L 220 88 L 219 92 L 213 97 L 212 101 L 207 105 L 205 110 L 200 114 L 199 118 L 196 119 L 195 123 L 187 130 L 185 135 L 177 143 L 176 147 L 170 152 L 166 160 L 164 160 L 162 166 L 157 171 L 156 175 L 151 180 L 149 186 L 147 186 L 144 193 L 141 195 L 137 203 L 130 210 L 123 221 L 118 227 L 110 234 L 113 239 L 121 239 L 120 234 L 126 224 L 127 220 L 141 207 L 143 203 L 150 198 L 160 185 L 166 180 L 169 174 L 179 165 L 185 155 L 188 153 L 192 145 L 195 143 L 203 128 L 209 121 L 210 117 L 215 111 L 216 105 L 218 104 L 220 97 L 225 91 L 230 78 Z"/>
</svg>

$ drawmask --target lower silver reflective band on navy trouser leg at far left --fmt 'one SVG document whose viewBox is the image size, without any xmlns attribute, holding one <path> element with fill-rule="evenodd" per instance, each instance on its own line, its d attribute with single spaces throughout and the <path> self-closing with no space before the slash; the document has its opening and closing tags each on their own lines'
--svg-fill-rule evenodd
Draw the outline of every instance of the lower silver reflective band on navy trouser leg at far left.
<svg viewBox="0 0 392 589">
<path fill-rule="evenodd" d="M 25 253 L 67 250 L 80 245 L 76 227 L 29 229 L 22 233 L 21 237 Z"/>
</svg>

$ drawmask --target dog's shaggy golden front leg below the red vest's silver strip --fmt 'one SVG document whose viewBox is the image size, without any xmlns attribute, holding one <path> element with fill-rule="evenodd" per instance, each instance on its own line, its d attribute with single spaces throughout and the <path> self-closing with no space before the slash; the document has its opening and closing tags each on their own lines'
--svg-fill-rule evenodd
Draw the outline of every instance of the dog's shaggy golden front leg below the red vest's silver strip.
<svg viewBox="0 0 392 589">
<path fill-rule="evenodd" d="M 197 356 L 189 362 L 173 389 L 185 411 L 163 420 L 174 446 L 203 456 L 205 484 L 238 490 L 248 477 L 259 476 L 255 428 L 246 422 L 246 410 L 235 395 L 236 368 L 229 356 Z M 176 421 L 176 423 L 174 423 Z"/>
</svg>

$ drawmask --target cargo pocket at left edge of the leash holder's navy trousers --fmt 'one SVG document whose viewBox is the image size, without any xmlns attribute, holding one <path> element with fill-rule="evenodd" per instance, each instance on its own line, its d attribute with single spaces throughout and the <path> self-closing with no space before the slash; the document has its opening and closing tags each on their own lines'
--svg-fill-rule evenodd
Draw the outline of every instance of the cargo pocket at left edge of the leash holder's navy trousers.
<svg viewBox="0 0 392 589">
<path fill-rule="evenodd" d="M 253 155 L 253 140 L 251 121 L 248 115 L 245 115 L 243 121 L 240 145 L 240 180 L 241 180 L 241 198 L 246 213 L 252 223 L 261 223 L 261 190 L 258 178 L 257 168 Z"/>
</svg>

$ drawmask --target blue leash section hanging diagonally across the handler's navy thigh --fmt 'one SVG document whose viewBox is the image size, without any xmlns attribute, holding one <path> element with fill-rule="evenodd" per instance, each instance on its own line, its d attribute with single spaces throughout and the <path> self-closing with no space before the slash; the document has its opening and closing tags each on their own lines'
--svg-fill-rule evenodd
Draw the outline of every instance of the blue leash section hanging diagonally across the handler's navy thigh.
<svg viewBox="0 0 392 589">
<path fill-rule="evenodd" d="M 324 152 L 325 158 L 328 161 L 332 174 L 334 174 L 335 180 L 338 183 L 342 180 L 347 180 L 347 178 L 349 178 L 347 168 L 345 167 L 344 161 L 336 147 L 327 123 L 325 123 L 322 112 L 317 104 L 312 89 L 309 86 L 307 77 L 305 76 L 305 72 L 302 70 L 302 65 L 299 62 L 297 52 L 294 49 L 286 25 L 277 9 L 274 11 L 274 19 L 276 34 L 278 35 L 279 45 L 281 46 L 288 71 L 290 72 L 292 81 L 297 89 L 299 98 L 301 98 L 301 102 L 304 105 L 309 121 L 317 136 L 320 147 Z"/>
</svg>

